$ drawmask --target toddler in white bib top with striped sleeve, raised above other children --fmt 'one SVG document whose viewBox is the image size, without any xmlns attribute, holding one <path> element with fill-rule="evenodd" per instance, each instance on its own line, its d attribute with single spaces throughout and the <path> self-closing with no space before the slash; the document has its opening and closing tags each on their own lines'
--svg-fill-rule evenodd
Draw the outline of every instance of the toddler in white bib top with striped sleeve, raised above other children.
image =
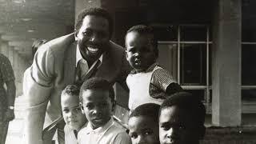
<svg viewBox="0 0 256 144">
<path fill-rule="evenodd" d="M 182 91 L 168 71 L 158 66 L 157 41 L 148 26 L 133 26 L 126 33 L 126 59 L 134 68 L 126 78 L 129 108 L 143 103 L 161 104 L 166 95 Z"/>
</svg>

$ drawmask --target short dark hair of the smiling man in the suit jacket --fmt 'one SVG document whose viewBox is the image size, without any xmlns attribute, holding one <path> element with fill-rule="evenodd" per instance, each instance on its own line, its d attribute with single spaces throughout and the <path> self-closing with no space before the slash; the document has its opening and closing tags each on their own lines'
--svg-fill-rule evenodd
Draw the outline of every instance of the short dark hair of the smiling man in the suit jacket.
<svg viewBox="0 0 256 144">
<path fill-rule="evenodd" d="M 111 17 L 110 13 L 107 12 L 105 9 L 99 8 L 99 7 L 93 7 L 89 9 L 84 9 L 78 14 L 78 18 L 75 24 L 75 30 L 79 31 L 82 26 L 83 18 L 86 17 L 86 15 L 94 15 L 102 18 L 106 18 L 106 20 L 109 22 L 109 32 L 110 32 L 110 38 L 113 33 L 113 18 Z"/>
</svg>

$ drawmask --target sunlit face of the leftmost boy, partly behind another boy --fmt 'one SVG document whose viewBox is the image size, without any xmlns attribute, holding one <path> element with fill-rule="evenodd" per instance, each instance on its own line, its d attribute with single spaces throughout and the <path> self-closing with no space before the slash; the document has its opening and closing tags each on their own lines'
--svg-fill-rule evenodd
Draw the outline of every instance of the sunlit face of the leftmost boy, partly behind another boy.
<svg viewBox="0 0 256 144">
<path fill-rule="evenodd" d="M 73 130 L 79 130 L 87 121 L 79 106 L 78 96 L 62 95 L 62 114 L 66 125 Z"/>
</svg>

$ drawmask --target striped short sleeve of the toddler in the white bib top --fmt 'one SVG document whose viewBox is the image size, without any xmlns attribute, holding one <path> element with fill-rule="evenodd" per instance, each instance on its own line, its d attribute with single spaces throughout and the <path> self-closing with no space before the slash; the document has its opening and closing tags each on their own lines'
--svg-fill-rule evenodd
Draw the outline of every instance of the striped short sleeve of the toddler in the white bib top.
<svg viewBox="0 0 256 144">
<path fill-rule="evenodd" d="M 158 87 L 158 89 L 166 92 L 167 87 L 171 83 L 177 82 L 173 79 L 169 71 L 160 68 L 158 70 L 154 70 L 150 83 Z"/>
</svg>

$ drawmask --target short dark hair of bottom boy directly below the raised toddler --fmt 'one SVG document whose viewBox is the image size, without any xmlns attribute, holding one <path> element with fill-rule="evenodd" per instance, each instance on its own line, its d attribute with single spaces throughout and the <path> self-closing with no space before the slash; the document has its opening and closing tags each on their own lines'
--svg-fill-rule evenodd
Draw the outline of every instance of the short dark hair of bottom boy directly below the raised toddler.
<svg viewBox="0 0 256 144">
<path fill-rule="evenodd" d="M 155 103 L 145 103 L 136 107 L 130 114 L 129 119 L 133 117 L 145 116 L 152 118 L 154 122 L 158 122 L 158 113 L 160 105 Z"/>
</svg>

